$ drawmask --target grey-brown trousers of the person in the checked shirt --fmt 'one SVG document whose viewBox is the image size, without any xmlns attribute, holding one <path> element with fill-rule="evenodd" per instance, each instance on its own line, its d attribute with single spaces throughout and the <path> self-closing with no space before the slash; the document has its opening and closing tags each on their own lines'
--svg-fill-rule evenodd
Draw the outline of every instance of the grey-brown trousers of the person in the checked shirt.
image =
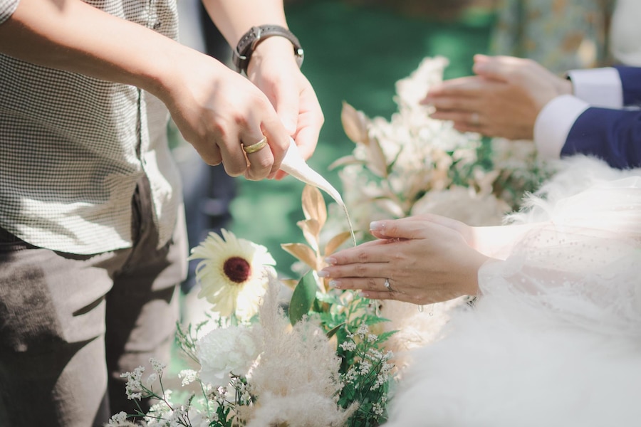
<svg viewBox="0 0 641 427">
<path fill-rule="evenodd" d="M 135 408 L 120 373 L 170 362 L 184 216 L 157 250 L 146 179 L 132 211 L 133 248 L 97 255 L 36 248 L 0 228 L 0 426 L 102 426 Z"/>
</svg>

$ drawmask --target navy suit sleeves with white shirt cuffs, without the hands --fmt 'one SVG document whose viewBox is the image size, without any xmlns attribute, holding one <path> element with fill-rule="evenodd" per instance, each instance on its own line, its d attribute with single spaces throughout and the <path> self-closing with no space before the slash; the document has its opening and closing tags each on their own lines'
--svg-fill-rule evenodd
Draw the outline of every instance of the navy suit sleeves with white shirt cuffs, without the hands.
<svg viewBox="0 0 641 427">
<path fill-rule="evenodd" d="M 612 167 L 640 167 L 641 112 L 621 107 L 641 104 L 641 68 L 577 70 L 570 78 L 577 96 L 551 100 L 536 119 L 539 152 L 551 158 L 593 155 Z"/>
</svg>

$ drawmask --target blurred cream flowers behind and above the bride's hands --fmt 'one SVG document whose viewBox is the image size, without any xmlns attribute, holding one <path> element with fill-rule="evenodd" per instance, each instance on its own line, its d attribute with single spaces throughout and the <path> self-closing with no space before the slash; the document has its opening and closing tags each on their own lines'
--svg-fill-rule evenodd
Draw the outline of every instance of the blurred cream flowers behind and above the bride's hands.
<svg viewBox="0 0 641 427">
<path fill-rule="evenodd" d="M 356 146 L 331 167 L 340 167 L 355 228 L 428 212 L 472 226 L 498 225 L 553 172 L 531 142 L 486 140 L 429 117 L 430 107 L 420 100 L 442 82 L 447 64 L 446 58 L 424 58 L 399 80 L 398 112 L 391 120 L 367 117 L 343 103 L 343 128 Z"/>
</svg>

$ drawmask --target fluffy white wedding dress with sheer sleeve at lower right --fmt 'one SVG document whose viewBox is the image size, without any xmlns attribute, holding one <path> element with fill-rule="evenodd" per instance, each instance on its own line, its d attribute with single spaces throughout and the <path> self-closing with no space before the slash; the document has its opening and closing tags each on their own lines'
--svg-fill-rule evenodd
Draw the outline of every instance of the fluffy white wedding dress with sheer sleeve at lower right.
<svg viewBox="0 0 641 427">
<path fill-rule="evenodd" d="M 579 157 L 479 272 L 482 296 L 410 352 L 386 427 L 641 426 L 641 169 Z"/>
</svg>

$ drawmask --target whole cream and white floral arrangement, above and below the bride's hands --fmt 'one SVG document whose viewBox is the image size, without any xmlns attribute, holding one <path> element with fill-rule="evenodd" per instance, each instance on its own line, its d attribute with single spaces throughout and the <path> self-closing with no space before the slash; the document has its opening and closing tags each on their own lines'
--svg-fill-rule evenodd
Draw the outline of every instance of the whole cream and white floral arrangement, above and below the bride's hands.
<svg viewBox="0 0 641 427">
<path fill-rule="evenodd" d="M 446 66 L 444 58 L 425 58 L 397 82 L 399 111 L 389 121 L 343 105 L 343 127 L 356 146 L 333 167 L 340 167 L 357 229 L 427 212 L 495 225 L 553 172 L 536 159 L 531 142 L 486 141 L 432 120 L 419 101 Z M 300 280 L 278 278 L 264 246 L 229 231 L 211 233 L 192 250 L 190 258 L 200 260 L 198 296 L 212 305 L 212 315 L 198 325 L 178 325 L 189 369 L 178 374 L 179 389 L 165 388 L 166 367 L 156 360 L 147 376 L 142 367 L 125 372 L 129 399 L 155 404 L 146 413 L 139 405 L 137 413 L 115 414 L 110 426 L 373 427 L 386 421 L 407 365 L 399 354 L 436 339 L 465 299 L 424 313 L 331 288 L 316 272 L 350 232 L 336 232 L 344 229 L 335 222 L 344 221 L 343 212 L 328 215 L 315 187 L 303 189 L 302 202 L 305 219 L 298 227 L 306 243 L 282 245 L 298 259 Z"/>
</svg>

